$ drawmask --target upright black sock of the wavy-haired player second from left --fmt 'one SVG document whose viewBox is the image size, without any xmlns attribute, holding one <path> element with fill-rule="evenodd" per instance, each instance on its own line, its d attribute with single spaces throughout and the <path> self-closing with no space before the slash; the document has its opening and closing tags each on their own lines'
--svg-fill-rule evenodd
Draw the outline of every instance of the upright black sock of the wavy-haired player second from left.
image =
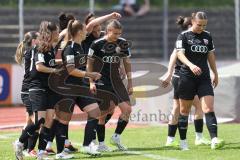
<svg viewBox="0 0 240 160">
<path fill-rule="evenodd" d="M 39 134 L 38 150 L 45 150 L 49 141 L 50 128 L 43 126 Z"/>
</svg>

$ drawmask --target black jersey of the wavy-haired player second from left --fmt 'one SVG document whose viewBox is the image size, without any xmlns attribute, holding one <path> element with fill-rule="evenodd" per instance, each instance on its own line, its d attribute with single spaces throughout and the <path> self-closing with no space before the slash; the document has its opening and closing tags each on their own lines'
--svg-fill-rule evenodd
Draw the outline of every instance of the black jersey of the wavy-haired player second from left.
<svg viewBox="0 0 240 160">
<path fill-rule="evenodd" d="M 39 72 L 36 69 L 36 65 L 39 63 L 43 63 L 44 66 L 53 68 L 50 66 L 50 61 L 55 59 L 55 54 L 53 48 L 45 53 L 40 53 L 35 50 L 34 57 L 31 60 L 31 68 L 30 68 L 30 87 L 31 88 L 40 88 L 45 89 L 48 88 L 48 77 L 49 73 Z"/>
</svg>

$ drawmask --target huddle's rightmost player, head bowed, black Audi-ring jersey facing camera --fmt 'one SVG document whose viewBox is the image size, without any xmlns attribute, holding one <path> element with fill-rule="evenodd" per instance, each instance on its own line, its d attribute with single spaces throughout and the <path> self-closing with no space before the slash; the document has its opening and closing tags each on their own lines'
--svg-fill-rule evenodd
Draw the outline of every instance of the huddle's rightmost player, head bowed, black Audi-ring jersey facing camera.
<svg viewBox="0 0 240 160">
<path fill-rule="evenodd" d="M 115 98 L 106 96 L 104 101 L 105 103 L 101 103 L 101 108 L 108 113 L 110 110 L 110 104 L 112 105 L 112 101 L 121 109 L 121 116 L 119 117 L 117 128 L 115 130 L 114 135 L 112 136 L 112 144 L 116 145 L 120 150 L 126 150 L 126 148 L 120 142 L 120 135 L 123 130 L 127 126 L 128 119 L 131 113 L 131 105 L 129 100 L 129 94 L 132 94 L 132 77 L 131 77 L 131 64 L 130 64 L 130 51 L 129 48 L 126 47 L 128 44 L 127 41 L 121 38 L 122 34 L 122 25 L 117 20 L 112 20 L 107 25 L 107 32 L 103 38 L 100 38 L 91 45 L 89 49 L 89 59 L 88 59 L 88 70 L 96 70 L 94 68 L 94 63 L 97 59 L 100 59 L 103 62 L 103 67 L 101 69 L 102 78 L 100 79 L 104 85 L 97 86 L 92 81 L 90 81 L 90 89 L 92 92 L 97 93 L 97 97 L 100 97 L 99 92 L 105 91 L 105 94 L 109 93 L 114 95 Z M 120 61 L 123 59 L 125 70 L 127 72 L 128 78 L 128 86 L 127 90 L 121 80 L 119 74 Z M 102 95 L 104 96 L 104 95 Z M 106 99 L 109 98 L 109 99 Z M 105 117 L 106 114 L 103 113 L 99 119 L 98 130 L 102 130 L 100 133 L 102 135 L 98 135 L 100 145 L 104 145 L 105 139 Z"/>
</svg>

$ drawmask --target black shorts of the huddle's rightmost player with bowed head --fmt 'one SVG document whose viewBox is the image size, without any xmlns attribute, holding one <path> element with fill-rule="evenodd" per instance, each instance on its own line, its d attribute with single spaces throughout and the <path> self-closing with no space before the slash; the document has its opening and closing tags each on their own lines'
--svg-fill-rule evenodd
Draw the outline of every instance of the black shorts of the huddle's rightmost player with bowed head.
<svg viewBox="0 0 240 160">
<path fill-rule="evenodd" d="M 97 86 L 97 95 L 99 108 L 107 110 L 110 107 L 110 102 L 113 101 L 115 105 L 122 102 L 130 102 L 128 92 L 123 83 L 118 83 L 117 87 L 112 85 L 99 85 Z"/>
</svg>

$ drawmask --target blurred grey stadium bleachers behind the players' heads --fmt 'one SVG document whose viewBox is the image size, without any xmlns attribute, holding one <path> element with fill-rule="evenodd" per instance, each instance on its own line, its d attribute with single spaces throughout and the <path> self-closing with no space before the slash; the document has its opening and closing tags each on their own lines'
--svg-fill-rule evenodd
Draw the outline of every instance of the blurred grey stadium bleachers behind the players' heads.
<svg viewBox="0 0 240 160">
<path fill-rule="evenodd" d="M 19 12 L 21 1 L 23 1 L 23 12 Z M 203 10 L 209 17 L 207 30 L 213 35 L 217 58 L 236 59 L 239 45 L 236 41 L 239 39 L 236 37 L 239 34 L 236 31 L 239 28 L 236 29 L 238 16 L 235 15 L 239 14 L 235 14 L 235 1 L 165 0 L 168 6 L 164 6 L 164 0 L 150 0 L 151 9 L 146 15 L 121 19 L 124 25 L 123 36 L 133 42 L 133 58 L 164 58 L 167 60 L 179 33 L 175 24 L 176 18 L 179 15 L 190 16 L 192 12 Z M 141 0 L 137 2 L 143 3 Z M 42 20 L 57 22 L 60 12 L 72 12 L 83 20 L 89 10 L 95 11 L 95 14 L 100 16 L 114 11 L 113 6 L 118 3 L 118 0 L 1 0 L 0 62 L 14 63 L 13 56 L 19 42 L 19 35 L 21 39 L 23 33 L 38 30 Z M 164 11 L 166 11 L 165 14 Z M 20 23 L 20 13 L 23 15 L 23 23 Z"/>
</svg>

